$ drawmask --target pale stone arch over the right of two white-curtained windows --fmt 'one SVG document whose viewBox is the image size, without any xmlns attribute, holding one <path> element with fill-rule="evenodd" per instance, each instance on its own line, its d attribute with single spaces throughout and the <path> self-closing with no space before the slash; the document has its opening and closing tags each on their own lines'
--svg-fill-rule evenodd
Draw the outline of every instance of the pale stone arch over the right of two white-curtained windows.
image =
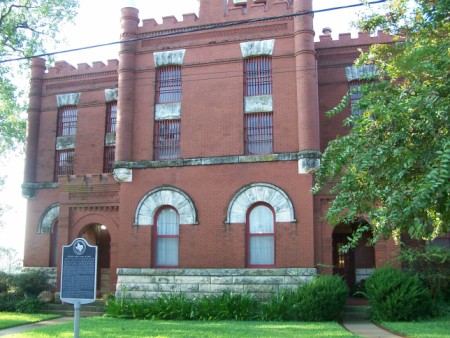
<svg viewBox="0 0 450 338">
<path fill-rule="evenodd" d="M 268 183 L 254 183 L 241 188 L 228 205 L 225 222 L 245 223 L 248 208 L 257 202 L 272 206 L 276 222 L 295 222 L 294 207 L 289 196 L 282 189 Z"/>
</svg>

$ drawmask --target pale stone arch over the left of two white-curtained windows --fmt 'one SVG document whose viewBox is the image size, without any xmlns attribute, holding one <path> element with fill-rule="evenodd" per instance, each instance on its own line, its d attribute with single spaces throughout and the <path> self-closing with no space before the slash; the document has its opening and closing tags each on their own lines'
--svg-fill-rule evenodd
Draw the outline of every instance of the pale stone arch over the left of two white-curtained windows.
<svg viewBox="0 0 450 338">
<path fill-rule="evenodd" d="M 139 202 L 134 225 L 153 225 L 155 212 L 164 205 L 177 209 L 180 224 L 197 224 L 197 212 L 191 198 L 174 187 L 161 187 L 147 193 Z"/>
</svg>

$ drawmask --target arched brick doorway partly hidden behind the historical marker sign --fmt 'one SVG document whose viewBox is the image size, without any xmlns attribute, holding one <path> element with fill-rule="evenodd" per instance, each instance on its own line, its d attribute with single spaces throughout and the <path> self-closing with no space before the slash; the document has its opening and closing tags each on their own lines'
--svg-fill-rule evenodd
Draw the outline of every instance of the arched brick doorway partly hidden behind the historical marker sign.
<svg viewBox="0 0 450 338">
<path fill-rule="evenodd" d="M 89 224 L 81 229 L 78 237 L 84 238 L 90 245 L 96 245 L 97 251 L 97 291 L 101 294 L 110 292 L 110 251 L 111 236 L 104 224 Z"/>
</svg>

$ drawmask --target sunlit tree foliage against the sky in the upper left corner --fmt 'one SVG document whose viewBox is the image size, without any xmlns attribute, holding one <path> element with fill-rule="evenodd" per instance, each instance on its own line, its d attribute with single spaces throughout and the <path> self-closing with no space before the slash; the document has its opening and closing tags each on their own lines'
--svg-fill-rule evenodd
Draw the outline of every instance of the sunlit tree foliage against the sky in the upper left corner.
<svg viewBox="0 0 450 338">
<path fill-rule="evenodd" d="M 78 0 L 0 0 L 0 156 L 25 141 L 25 107 L 18 100 L 17 57 L 45 52 Z"/>
</svg>

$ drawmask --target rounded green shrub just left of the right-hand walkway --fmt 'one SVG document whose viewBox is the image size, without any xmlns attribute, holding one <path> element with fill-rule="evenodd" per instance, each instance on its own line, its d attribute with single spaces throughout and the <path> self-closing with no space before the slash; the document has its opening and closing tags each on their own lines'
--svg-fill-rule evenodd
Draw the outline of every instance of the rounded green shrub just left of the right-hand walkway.
<svg viewBox="0 0 450 338">
<path fill-rule="evenodd" d="M 348 292 L 340 276 L 316 276 L 296 292 L 294 311 L 297 319 L 309 322 L 338 320 Z"/>
</svg>

